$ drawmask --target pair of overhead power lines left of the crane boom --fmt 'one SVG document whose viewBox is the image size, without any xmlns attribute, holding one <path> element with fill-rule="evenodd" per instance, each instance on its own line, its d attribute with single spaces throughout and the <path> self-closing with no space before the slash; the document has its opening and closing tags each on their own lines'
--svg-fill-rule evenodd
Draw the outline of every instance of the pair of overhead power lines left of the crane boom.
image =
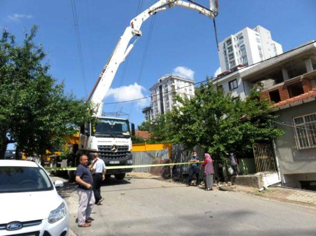
<svg viewBox="0 0 316 236">
<path fill-rule="evenodd" d="M 83 89 L 84 89 L 85 96 L 87 96 L 88 93 L 87 93 L 87 85 L 86 85 L 86 79 L 85 79 L 85 73 L 84 73 L 84 63 L 83 63 L 82 50 L 81 50 L 81 40 L 80 40 L 80 33 L 79 33 L 77 9 L 76 9 L 76 3 L 74 0 L 71 0 L 71 7 L 72 7 L 72 12 L 73 12 L 73 18 L 74 18 L 74 26 L 75 26 L 76 39 L 77 39 L 80 70 L 81 70 L 81 76 L 82 76 L 82 81 L 83 81 Z"/>
</svg>

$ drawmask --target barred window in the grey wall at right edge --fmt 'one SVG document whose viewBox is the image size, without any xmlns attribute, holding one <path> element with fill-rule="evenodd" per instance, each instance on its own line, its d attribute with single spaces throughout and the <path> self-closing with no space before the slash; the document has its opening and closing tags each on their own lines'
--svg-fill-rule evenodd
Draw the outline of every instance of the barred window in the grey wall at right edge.
<svg viewBox="0 0 316 236">
<path fill-rule="evenodd" d="M 316 113 L 293 118 L 298 149 L 316 148 Z"/>
</svg>

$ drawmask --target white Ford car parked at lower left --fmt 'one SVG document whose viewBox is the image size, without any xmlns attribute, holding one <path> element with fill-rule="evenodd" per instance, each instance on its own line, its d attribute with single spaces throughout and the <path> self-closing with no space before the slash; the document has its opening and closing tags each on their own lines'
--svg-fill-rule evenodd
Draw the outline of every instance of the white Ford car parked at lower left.
<svg viewBox="0 0 316 236">
<path fill-rule="evenodd" d="M 0 160 L 0 236 L 66 236 L 66 202 L 36 162 Z"/>
</svg>

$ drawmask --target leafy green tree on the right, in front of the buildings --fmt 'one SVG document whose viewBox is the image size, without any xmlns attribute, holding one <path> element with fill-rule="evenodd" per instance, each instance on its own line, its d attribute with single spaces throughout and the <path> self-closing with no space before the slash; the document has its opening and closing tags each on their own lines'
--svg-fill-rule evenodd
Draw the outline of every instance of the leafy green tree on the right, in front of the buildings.
<svg viewBox="0 0 316 236">
<path fill-rule="evenodd" d="M 214 89 L 212 81 L 196 89 L 192 99 L 176 99 L 182 106 L 173 109 L 170 127 L 178 140 L 187 148 L 201 145 L 215 158 L 223 158 L 226 153 L 244 155 L 252 144 L 265 142 L 283 132 L 271 126 L 273 116 L 267 100 L 260 101 L 260 93 L 252 89 L 245 101 Z"/>
</svg>

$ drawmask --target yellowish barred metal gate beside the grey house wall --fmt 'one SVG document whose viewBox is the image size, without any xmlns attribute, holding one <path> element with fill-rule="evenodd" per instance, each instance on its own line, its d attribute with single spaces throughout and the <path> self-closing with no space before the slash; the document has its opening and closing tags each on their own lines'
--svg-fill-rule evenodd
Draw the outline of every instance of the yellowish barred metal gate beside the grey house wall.
<svg viewBox="0 0 316 236">
<path fill-rule="evenodd" d="M 253 144 L 257 172 L 277 171 L 272 144 Z"/>
</svg>

